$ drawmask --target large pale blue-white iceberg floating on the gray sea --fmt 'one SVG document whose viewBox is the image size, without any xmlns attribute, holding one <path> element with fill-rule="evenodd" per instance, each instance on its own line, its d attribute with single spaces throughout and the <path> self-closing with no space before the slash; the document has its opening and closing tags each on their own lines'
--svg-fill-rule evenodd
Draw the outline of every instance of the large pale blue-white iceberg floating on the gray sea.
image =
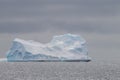
<svg viewBox="0 0 120 80">
<path fill-rule="evenodd" d="M 7 61 L 90 61 L 86 41 L 78 35 L 54 36 L 42 44 L 16 38 L 7 52 Z"/>
</svg>

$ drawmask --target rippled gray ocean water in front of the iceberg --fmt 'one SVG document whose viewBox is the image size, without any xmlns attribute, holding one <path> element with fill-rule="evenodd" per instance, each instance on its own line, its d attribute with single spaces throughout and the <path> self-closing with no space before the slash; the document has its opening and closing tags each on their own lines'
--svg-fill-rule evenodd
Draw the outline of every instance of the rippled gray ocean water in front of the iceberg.
<svg viewBox="0 0 120 80">
<path fill-rule="evenodd" d="M 0 62 L 0 80 L 120 80 L 120 63 Z"/>
</svg>

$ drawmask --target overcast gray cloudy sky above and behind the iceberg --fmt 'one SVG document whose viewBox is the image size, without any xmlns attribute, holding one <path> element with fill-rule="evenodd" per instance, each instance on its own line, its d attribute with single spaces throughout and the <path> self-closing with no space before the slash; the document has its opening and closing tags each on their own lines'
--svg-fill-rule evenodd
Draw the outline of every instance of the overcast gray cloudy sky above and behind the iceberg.
<svg viewBox="0 0 120 80">
<path fill-rule="evenodd" d="M 120 0 L 0 0 L 0 57 L 16 37 L 64 33 L 83 36 L 93 59 L 120 61 Z"/>
</svg>

